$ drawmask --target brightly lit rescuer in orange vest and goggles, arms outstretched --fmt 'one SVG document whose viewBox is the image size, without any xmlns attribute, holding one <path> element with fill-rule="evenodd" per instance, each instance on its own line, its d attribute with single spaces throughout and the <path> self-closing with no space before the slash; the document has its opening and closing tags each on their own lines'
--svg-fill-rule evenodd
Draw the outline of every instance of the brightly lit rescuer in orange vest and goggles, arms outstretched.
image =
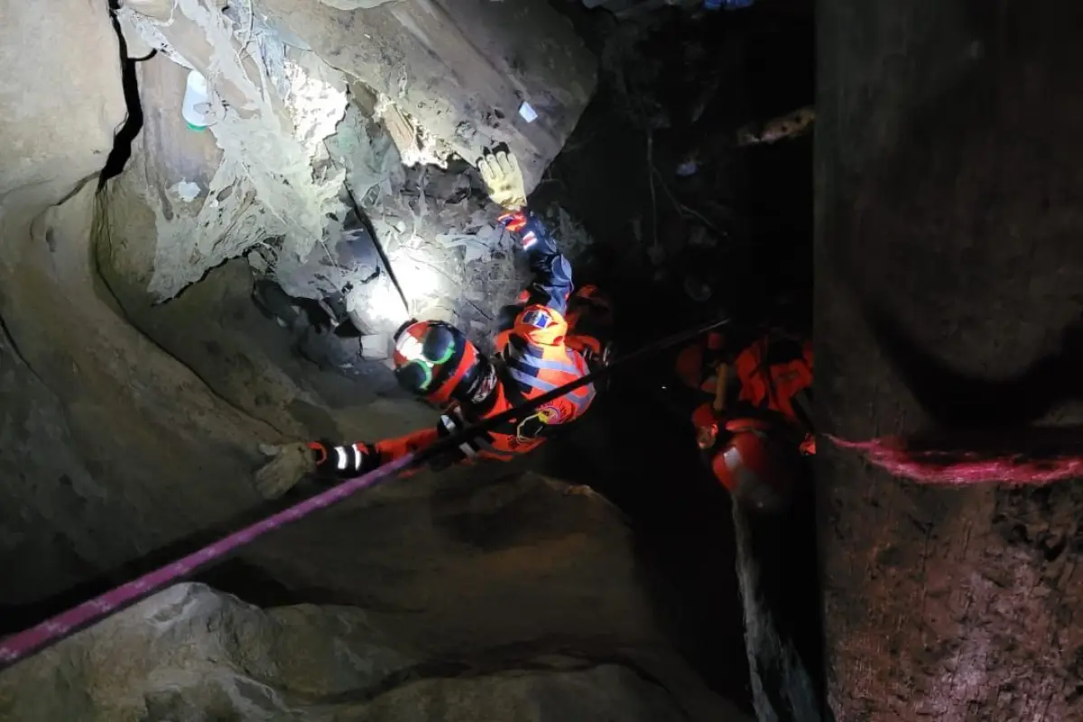
<svg viewBox="0 0 1083 722">
<path fill-rule="evenodd" d="M 380 464 L 431 446 L 444 436 L 496 416 L 586 376 L 609 362 L 612 310 L 595 287 L 573 293 L 572 268 L 542 221 L 526 208 L 514 156 L 478 161 L 500 222 L 521 241 L 534 280 L 497 329 L 488 358 L 458 328 L 443 321 L 408 321 L 394 337 L 395 377 L 406 390 L 443 409 L 435 426 L 375 444 L 328 442 L 265 447 L 276 458 L 257 474 L 257 488 L 276 497 L 305 475 L 353 478 Z M 593 384 L 543 404 L 523 418 L 466 441 L 434 460 L 436 468 L 478 459 L 510 460 L 540 446 L 583 416 L 595 399 Z"/>
</svg>

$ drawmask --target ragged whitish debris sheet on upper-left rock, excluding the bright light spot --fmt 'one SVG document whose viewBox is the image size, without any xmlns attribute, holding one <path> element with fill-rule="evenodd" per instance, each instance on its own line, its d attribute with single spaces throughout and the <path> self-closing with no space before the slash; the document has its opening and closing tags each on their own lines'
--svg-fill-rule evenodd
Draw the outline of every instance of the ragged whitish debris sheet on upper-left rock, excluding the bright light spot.
<svg viewBox="0 0 1083 722">
<path fill-rule="evenodd" d="M 177 0 L 168 22 L 132 19 L 148 44 L 207 77 L 209 130 L 223 152 L 195 216 L 166 212 L 147 189 L 157 215 L 148 290 L 159 301 L 268 238 L 280 239 L 282 253 L 308 257 L 327 213 L 341 207 L 344 174 L 319 161 L 345 111 L 343 76 L 314 53 L 287 48 L 249 10 L 234 24 L 208 2 Z"/>
</svg>

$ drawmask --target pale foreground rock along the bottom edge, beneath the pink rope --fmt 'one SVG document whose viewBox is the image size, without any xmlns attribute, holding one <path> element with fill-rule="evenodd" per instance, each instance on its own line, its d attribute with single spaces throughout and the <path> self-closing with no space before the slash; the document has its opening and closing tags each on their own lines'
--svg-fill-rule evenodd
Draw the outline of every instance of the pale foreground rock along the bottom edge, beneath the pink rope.
<svg viewBox="0 0 1083 722">
<path fill-rule="evenodd" d="M 0 678 L 5 720 L 688 719 L 639 670 L 565 655 L 427 661 L 366 613 L 263 612 L 178 585 Z"/>
</svg>

